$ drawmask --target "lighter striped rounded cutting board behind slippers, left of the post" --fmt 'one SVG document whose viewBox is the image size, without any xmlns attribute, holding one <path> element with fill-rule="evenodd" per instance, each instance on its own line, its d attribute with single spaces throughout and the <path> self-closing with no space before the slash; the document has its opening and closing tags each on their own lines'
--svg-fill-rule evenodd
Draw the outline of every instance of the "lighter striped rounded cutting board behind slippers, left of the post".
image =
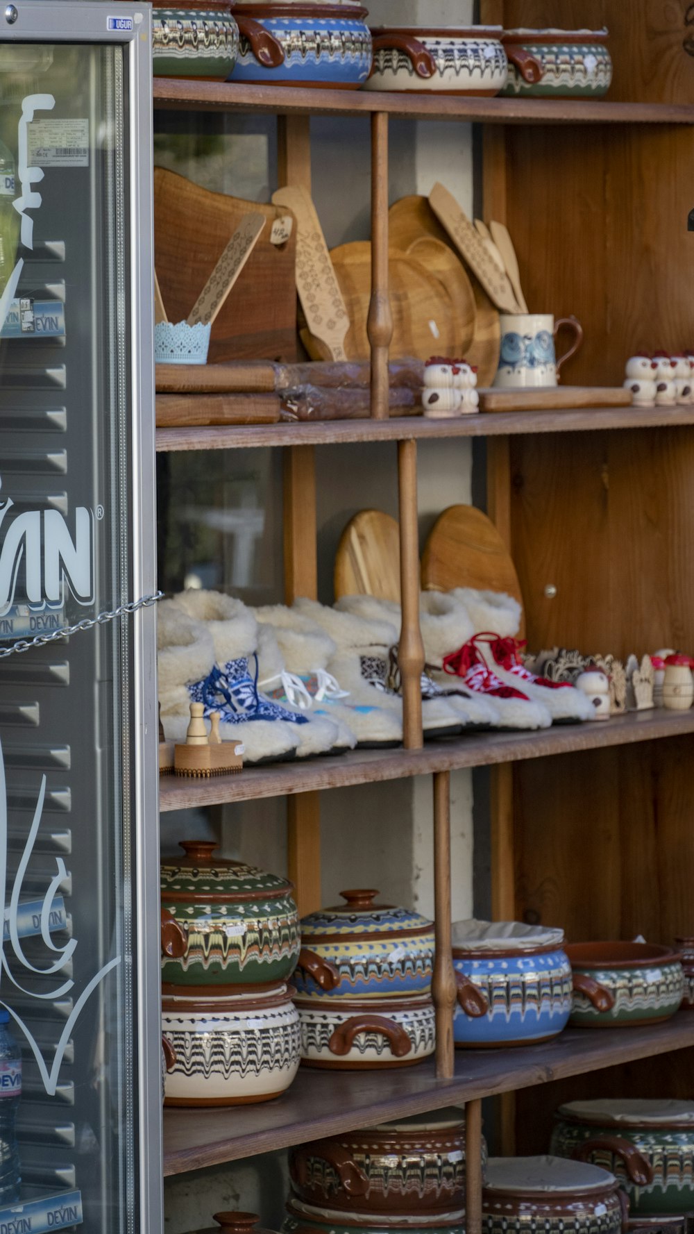
<svg viewBox="0 0 694 1234">
<path fill-rule="evenodd" d="M 399 526 L 381 510 L 360 510 L 346 524 L 335 553 L 335 600 L 376 596 L 401 602 Z"/>
</svg>

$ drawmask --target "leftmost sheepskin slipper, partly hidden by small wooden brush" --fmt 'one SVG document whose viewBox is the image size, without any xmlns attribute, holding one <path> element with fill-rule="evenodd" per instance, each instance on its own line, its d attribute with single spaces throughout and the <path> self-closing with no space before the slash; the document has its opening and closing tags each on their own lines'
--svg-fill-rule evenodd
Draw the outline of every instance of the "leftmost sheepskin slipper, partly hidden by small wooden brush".
<svg viewBox="0 0 694 1234">
<path fill-rule="evenodd" d="M 222 596 L 227 600 L 227 596 Z M 176 601 L 158 605 L 159 701 L 161 723 L 170 742 L 185 742 L 190 723 L 190 703 L 196 691 L 218 670 L 214 666 L 214 642 L 210 624 L 192 619 Z M 202 700 L 201 700 L 202 701 Z M 219 710 L 217 706 L 207 708 Z M 279 761 L 293 758 L 298 739 L 291 728 L 276 721 L 245 722 L 240 716 L 234 723 L 222 719 L 222 740 L 242 743 L 247 763 Z"/>
</svg>

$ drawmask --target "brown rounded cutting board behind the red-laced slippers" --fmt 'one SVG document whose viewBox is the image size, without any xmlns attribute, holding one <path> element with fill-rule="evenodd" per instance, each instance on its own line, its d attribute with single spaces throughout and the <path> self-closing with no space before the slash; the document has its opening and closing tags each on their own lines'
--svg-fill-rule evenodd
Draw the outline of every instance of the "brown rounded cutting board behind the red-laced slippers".
<svg viewBox="0 0 694 1234">
<path fill-rule="evenodd" d="M 422 589 L 505 591 L 523 606 L 518 574 L 491 518 L 475 506 L 449 506 L 434 523 L 422 554 Z M 521 618 L 523 638 L 525 618 Z"/>
</svg>

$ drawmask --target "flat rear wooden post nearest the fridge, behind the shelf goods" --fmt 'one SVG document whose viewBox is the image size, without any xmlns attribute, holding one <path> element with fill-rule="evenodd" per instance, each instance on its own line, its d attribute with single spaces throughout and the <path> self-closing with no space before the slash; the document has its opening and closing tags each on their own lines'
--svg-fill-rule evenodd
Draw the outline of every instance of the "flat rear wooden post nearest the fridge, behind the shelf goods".
<svg viewBox="0 0 694 1234">
<path fill-rule="evenodd" d="M 277 117 L 277 180 L 311 193 L 311 117 Z M 284 452 L 285 602 L 316 600 L 316 457 L 312 445 Z M 300 913 L 320 907 L 320 795 L 287 797 L 287 865 Z"/>
</svg>

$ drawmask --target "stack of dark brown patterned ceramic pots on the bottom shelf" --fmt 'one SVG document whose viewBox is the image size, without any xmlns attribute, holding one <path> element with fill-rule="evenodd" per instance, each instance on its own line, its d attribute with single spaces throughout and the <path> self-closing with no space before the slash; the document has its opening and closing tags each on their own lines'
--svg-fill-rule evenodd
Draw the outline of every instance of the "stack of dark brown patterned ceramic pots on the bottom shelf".
<svg viewBox="0 0 694 1234">
<path fill-rule="evenodd" d="M 483 1169 L 486 1159 L 483 1143 Z M 291 1153 L 290 1176 L 284 1234 L 462 1230 L 462 1111 L 443 1109 L 302 1144 Z"/>
</svg>

